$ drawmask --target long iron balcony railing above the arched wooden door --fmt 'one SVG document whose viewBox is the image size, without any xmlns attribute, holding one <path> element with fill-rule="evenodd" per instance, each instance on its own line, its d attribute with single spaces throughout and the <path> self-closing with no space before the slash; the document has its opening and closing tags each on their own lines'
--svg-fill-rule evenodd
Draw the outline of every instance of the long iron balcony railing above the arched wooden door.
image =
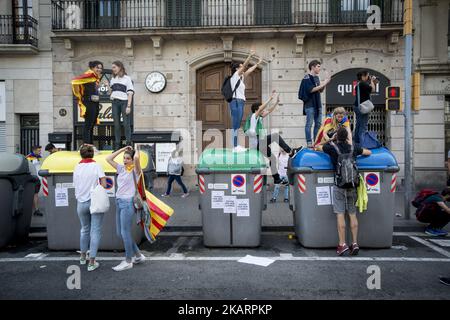
<svg viewBox="0 0 450 320">
<path fill-rule="evenodd" d="M 402 0 L 53 0 L 53 30 L 364 25 L 403 22 Z"/>
</svg>

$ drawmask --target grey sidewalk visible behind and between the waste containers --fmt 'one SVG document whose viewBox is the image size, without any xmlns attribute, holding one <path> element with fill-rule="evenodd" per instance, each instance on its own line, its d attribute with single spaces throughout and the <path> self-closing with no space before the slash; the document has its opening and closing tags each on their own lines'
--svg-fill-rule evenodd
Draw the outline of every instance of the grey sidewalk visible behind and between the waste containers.
<svg viewBox="0 0 450 320">
<path fill-rule="evenodd" d="M 271 191 L 267 191 L 267 199 L 271 197 Z M 154 194 L 161 198 L 163 191 L 157 190 Z M 175 189 L 169 198 L 163 198 L 162 200 L 171 206 L 175 213 L 169 220 L 166 230 L 195 230 L 200 231 L 202 227 L 202 215 L 199 210 L 198 191 L 192 191 L 187 198 L 181 198 L 182 193 Z M 411 219 L 405 220 L 403 218 L 403 193 L 396 193 L 396 208 L 395 208 L 395 221 L 394 230 L 397 232 L 422 232 L 425 225 L 418 222 L 414 216 L 414 210 L 411 211 Z M 44 203 L 44 201 L 41 201 Z M 42 208 L 42 212 L 45 213 L 45 208 Z M 75 214 L 75 213 L 74 213 Z M 293 230 L 293 214 L 289 209 L 289 204 L 284 203 L 282 197 L 279 197 L 277 203 L 267 203 L 267 210 L 263 211 L 262 226 L 265 230 Z M 46 226 L 45 215 L 44 217 L 33 217 L 33 228 L 44 228 Z M 449 226 L 447 226 L 449 230 Z"/>
</svg>

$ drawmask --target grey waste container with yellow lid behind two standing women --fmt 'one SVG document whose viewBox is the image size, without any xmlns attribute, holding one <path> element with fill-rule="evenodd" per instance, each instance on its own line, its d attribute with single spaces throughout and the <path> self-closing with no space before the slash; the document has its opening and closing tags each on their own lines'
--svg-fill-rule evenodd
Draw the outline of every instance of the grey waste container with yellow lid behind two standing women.
<svg viewBox="0 0 450 320">
<path fill-rule="evenodd" d="M 116 234 L 116 176 L 115 169 L 106 162 L 111 151 L 101 151 L 94 160 L 103 167 L 108 179 L 110 209 L 105 213 L 102 227 L 100 250 L 122 250 L 122 239 Z M 118 159 L 121 159 L 121 155 Z M 75 151 L 60 151 L 50 155 L 42 164 L 39 175 L 47 180 L 48 196 L 45 200 L 47 214 L 47 240 L 51 250 L 76 250 L 80 248 L 80 221 L 77 215 L 77 201 L 73 186 L 73 170 L 81 158 Z M 147 156 L 141 152 L 141 164 L 147 166 Z M 56 206 L 55 191 L 67 189 L 68 204 Z M 60 190 L 60 189 L 59 189 Z M 61 205 L 61 204 L 60 204 Z M 140 226 L 133 224 L 134 241 L 141 243 L 144 233 Z"/>
</svg>

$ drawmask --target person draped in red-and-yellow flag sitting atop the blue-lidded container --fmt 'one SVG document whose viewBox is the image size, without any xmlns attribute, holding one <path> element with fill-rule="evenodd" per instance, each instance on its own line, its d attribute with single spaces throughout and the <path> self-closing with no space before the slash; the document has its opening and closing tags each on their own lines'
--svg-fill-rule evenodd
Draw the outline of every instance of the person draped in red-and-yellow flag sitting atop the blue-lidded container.
<svg viewBox="0 0 450 320">
<path fill-rule="evenodd" d="M 317 146 L 323 146 L 330 141 L 337 130 L 340 127 L 344 127 L 348 131 L 349 141 L 352 144 L 352 131 L 350 130 L 350 120 L 347 117 L 347 113 L 343 107 L 338 107 L 333 110 L 331 117 L 327 117 L 319 129 L 316 140 L 314 142 L 314 148 L 317 150 Z"/>
</svg>

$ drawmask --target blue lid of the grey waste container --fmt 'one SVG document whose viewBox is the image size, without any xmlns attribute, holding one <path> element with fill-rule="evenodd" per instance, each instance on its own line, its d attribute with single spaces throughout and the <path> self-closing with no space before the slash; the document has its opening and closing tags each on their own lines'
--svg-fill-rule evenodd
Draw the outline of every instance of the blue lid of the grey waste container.
<svg viewBox="0 0 450 320">
<path fill-rule="evenodd" d="M 356 165 L 360 170 L 386 170 L 398 168 L 395 156 L 385 147 L 371 149 L 370 156 L 359 156 Z M 291 168 L 310 168 L 312 170 L 334 170 L 330 156 L 324 152 L 303 149 L 291 161 Z"/>
</svg>

